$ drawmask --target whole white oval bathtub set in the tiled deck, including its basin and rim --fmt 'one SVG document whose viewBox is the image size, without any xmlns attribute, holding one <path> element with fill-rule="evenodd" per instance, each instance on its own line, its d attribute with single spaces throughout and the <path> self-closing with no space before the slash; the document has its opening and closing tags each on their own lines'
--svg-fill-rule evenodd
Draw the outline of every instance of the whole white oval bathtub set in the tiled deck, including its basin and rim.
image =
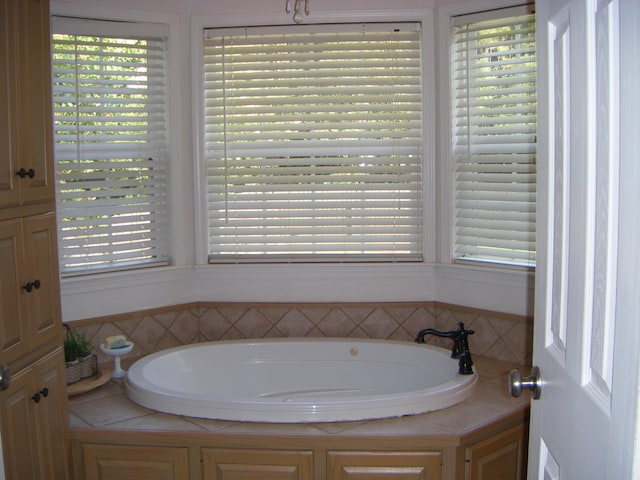
<svg viewBox="0 0 640 480">
<path fill-rule="evenodd" d="M 144 357 L 125 380 L 127 396 L 153 410 L 279 423 L 424 413 L 465 400 L 476 383 L 447 350 L 352 339 L 199 343 Z"/>
</svg>

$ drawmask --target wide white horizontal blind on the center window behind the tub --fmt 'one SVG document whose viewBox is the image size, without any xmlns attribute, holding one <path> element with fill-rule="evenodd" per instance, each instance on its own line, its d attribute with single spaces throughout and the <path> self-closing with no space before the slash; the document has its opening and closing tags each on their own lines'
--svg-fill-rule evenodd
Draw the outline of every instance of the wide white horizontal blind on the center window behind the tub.
<svg viewBox="0 0 640 480">
<path fill-rule="evenodd" d="M 420 33 L 332 27 L 205 32 L 211 262 L 421 259 Z"/>
</svg>

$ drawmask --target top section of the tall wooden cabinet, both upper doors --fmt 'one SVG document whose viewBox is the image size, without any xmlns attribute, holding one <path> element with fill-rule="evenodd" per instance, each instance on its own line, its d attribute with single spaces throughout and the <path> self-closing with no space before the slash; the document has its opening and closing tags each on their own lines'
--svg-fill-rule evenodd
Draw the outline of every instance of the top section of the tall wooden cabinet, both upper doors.
<svg viewBox="0 0 640 480">
<path fill-rule="evenodd" d="M 0 0 L 0 208 L 54 199 L 49 2 Z"/>
</svg>

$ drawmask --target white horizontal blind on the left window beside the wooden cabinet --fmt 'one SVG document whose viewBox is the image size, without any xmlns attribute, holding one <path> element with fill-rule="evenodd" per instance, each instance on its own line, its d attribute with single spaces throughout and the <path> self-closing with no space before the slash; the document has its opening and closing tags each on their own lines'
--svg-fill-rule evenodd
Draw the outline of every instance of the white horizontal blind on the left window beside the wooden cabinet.
<svg viewBox="0 0 640 480">
<path fill-rule="evenodd" d="M 69 19 L 54 23 L 63 275 L 169 260 L 166 39 L 108 34 L 111 27 L 123 26 Z M 129 29 L 140 32 L 141 27 Z M 86 33 L 77 33 L 82 30 Z"/>
</svg>

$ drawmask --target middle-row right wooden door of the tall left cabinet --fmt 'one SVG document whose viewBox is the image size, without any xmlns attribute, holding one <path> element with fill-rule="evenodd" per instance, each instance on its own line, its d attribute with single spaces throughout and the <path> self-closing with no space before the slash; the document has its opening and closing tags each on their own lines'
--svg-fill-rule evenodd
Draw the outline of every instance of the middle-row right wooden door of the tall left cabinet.
<svg viewBox="0 0 640 480">
<path fill-rule="evenodd" d="M 53 213 L 24 219 L 24 312 L 29 319 L 31 347 L 55 340 L 62 333 L 60 279 Z"/>
</svg>

